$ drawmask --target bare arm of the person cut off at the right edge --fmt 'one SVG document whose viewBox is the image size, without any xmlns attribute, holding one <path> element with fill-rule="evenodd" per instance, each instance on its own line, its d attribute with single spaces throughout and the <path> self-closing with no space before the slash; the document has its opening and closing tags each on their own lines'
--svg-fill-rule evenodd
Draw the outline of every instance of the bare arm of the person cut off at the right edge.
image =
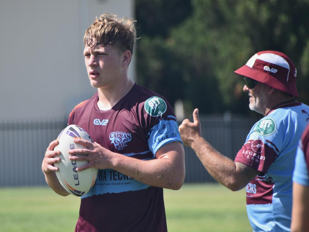
<svg viewBox="0 0 309 232">
<path fill-rule="evenodd" d="M 291 231 L 309 231 L 309 187 L 293 182 Z"/>
</svg>

